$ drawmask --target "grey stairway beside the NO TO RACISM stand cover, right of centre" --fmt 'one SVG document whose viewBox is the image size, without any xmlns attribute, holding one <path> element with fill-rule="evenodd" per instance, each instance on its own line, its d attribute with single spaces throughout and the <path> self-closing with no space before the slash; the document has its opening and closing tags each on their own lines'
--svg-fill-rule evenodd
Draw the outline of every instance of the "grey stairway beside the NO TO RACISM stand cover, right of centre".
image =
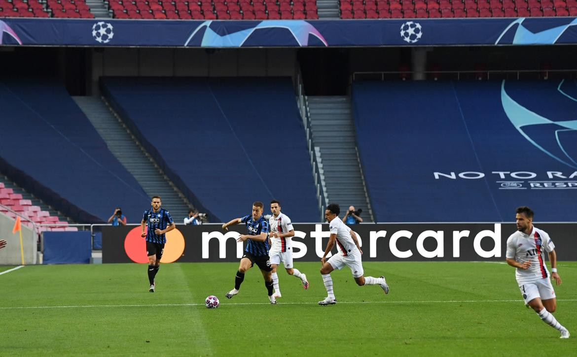
<svg viewBox="0 0 577 357">
<path fill-rule="evenodd" d="M 308 96 L 313 143 L 320 149 L 328 203 L 340 205 L 340 217 L 349 206 L 361 208 L 364 222 L 373 214 L 357 155 L 353 112 L 349 97 Z"/>
</svg>

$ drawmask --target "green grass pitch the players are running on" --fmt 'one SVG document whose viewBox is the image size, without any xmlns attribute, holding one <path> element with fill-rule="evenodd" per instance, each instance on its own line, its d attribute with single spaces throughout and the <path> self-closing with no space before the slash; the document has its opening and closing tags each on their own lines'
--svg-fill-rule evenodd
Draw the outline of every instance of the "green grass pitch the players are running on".
<svg viewBox="0 0 577 357">
<path fill-rule="evenodd" d="M 238 263 L 162 265 L 148 292 L 147 265 L 27 266 L 0 275 L 1 356 L 514 356 L 577 355 L 577 262 L 560 262 L 559 332 L 526 309 L 514 268 L 474 262 L 364 263 L 391 286 L 358 287 L 332 273 L 334 306 L 320 263 L 296 262 L 310 282 L 279 269 L 282 298 L 268 303 L 258 269 Z M 5 271 L 10 267 L 0 267 Z M 207 295 L 220 299 L 207 309 Z"/>
</svg>

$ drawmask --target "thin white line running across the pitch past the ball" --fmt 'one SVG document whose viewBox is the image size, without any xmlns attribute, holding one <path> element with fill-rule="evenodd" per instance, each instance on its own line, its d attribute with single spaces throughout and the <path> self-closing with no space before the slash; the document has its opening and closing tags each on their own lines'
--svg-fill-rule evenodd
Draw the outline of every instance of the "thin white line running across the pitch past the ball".
<svg viewBox="0 0 577 357">
<path fill-rule="evenodd" d="M 564 299 L 557 301 L 577 301 L 577 299 Z M 522 299 L 517 300 L 439 300 L 439 301 L 339 301 L 338 304 L 343 303 L 464 303 L 464 302 L 523 302 Z M 317 305 L 316 302 L 279 302 L 278 305 Z M 224 303 L 227 305 L 271 305 L 269 302 L 239 302 L 239 303 Z M 0 307 L 0 310 L 10 309 L 66 309 L 70 307 L 155 307 L 155 306 L 203 306 L 202 303 L 155 303 L 155 304 L 141 304 L 141 305 L 64 305 L 64 306 L 12 306 Z"/>
</svg>

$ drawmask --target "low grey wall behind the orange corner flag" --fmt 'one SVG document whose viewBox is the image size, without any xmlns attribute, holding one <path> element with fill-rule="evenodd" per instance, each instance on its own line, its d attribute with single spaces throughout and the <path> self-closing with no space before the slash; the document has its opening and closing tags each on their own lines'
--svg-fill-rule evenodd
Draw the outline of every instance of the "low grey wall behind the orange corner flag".
<svg viewBox="0 0 577 357">
<path fill-rule="evenodd" d="M 12 233 L 14 219 L 0 214 L 0 240 L 6 241 L 6 246 L 0 249 L 0 265 L 20 265 L 20 234 Z M 36 264 L 36 239 L 34 231 L 22 225 L 22 243 L 24 247 L 24 264 Z"/>
</svg>

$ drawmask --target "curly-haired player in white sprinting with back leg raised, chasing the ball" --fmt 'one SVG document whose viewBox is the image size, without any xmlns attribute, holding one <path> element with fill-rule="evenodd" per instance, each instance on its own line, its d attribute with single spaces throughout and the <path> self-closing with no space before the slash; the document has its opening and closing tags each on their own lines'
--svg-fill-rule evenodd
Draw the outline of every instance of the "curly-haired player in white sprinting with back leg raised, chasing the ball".
<svg viewBox="0 0 577 357">
<path fill-rule="evenodd" d="M 323 264 L 321 276 L 323 277 L 323 283 L 327 289 L 328 296 L 324 300 L 319 301 L 319 305 L 334 305 L 336 303 L 331 272 L 335 269 L 340 270 L 345 265 L 351 269 L 353 278 L 358 286 L 379 284 L 385 294 L 388 294 L 389 286 L 384 276 L 381 275 L 379 278 L 364 276 L 365 272 L 361 263 L 362 250 L 359 246 L 357 234 L 341 221 L 339 213 L 340 207 L 335 203 L 329 204 L 327 210 L 325 210 L 325 218 L 327 218 L 329 222 L 331 236 L 328 240 L 327 249 L 325 249 L 325 253 L 321 259 L 321 264 Z M 327 261 L 327 255 L 335 245 L 335 242 L 338 253 L 331 256 Z"/>
</svg>

